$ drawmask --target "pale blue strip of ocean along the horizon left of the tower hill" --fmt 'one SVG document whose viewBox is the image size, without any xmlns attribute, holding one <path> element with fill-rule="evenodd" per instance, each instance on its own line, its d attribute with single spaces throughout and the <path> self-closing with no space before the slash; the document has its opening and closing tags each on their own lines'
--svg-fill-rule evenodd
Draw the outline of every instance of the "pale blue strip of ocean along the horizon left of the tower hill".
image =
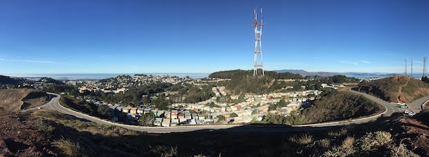
<svg viewBox="0 0 429 157">
<path fill-rule="evenodd" d="M 140 73 L 147 75 L 170 75 L 178 77 L 189 76 L 192 79 L 202 79 L 209 76 L 209 73 Z M 108 79 L 111 77 L 124 75 L 124 74 L 8 74 L 7 76 L 23 77 L 26 79 L 39 79 L 41 77 L 50 77 L 57 80 L 99 80 Z M 134 74 L 127 74 L 133 76 Z"/>
</svg>

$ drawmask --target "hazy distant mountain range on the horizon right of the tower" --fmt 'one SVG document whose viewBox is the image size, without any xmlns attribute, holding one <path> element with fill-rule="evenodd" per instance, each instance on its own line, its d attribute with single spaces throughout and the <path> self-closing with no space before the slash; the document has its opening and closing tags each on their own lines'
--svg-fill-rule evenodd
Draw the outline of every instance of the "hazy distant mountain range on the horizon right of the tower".
<svg viewBox="0 0 429 157">
<path fill-rule="evenodd" d="M 276 70 L 276 72 L 290 72 L 301 74 L 302 76 L 335 76 L 335 75 L 352 75 L 352 76 L 395 76 L 399 74 L 387 74 L 381 72 L 366 73 L 366 72 L 307 72 L 305 70 Z"/>
</svg>

